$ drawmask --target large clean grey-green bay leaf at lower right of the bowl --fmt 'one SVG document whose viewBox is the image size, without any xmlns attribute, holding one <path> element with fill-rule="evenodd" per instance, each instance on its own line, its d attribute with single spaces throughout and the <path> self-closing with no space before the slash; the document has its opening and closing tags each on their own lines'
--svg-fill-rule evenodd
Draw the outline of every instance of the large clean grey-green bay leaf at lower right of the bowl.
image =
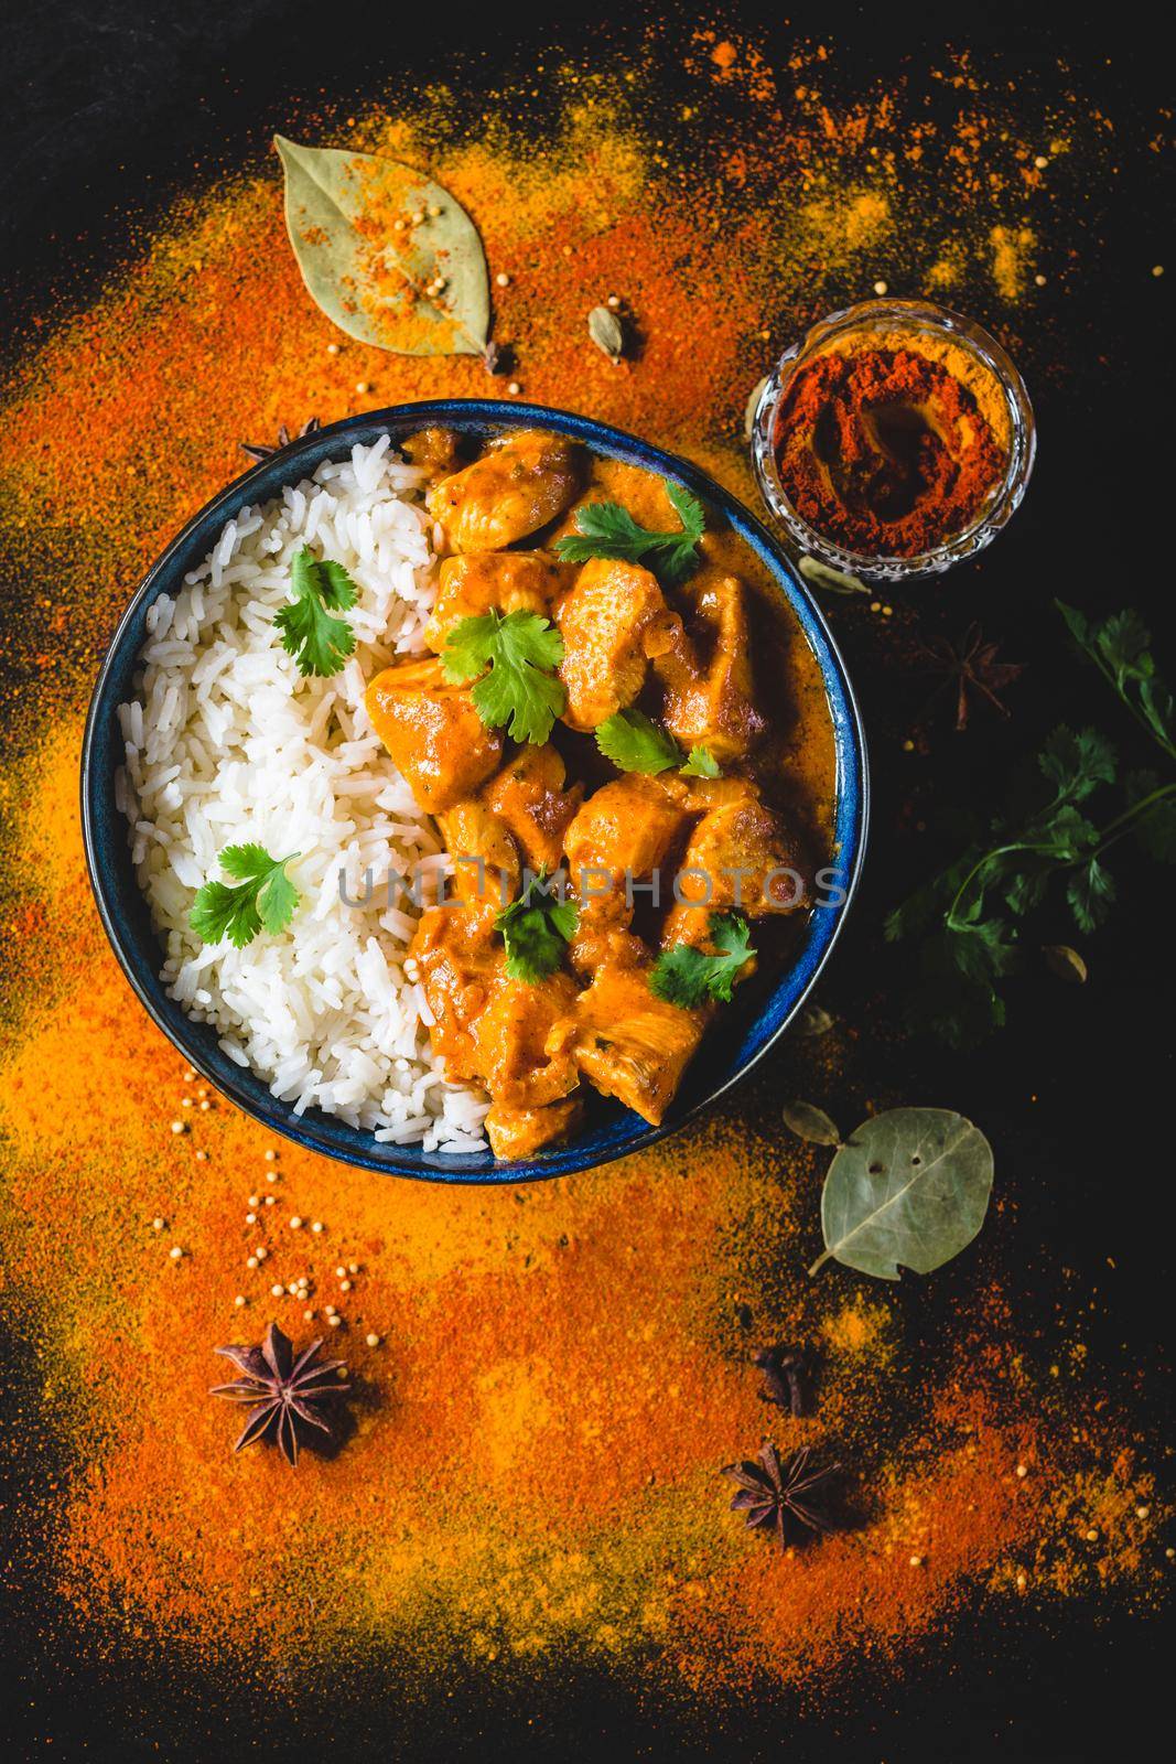
<svg viewBox="0 0 1176 1764">
<path fill-rule="evenodd" d="M 899 1265 L 931 1274 L 984 1224 L 993 1148 L 970 1120 L 943 1108 L 875 1115 L 841 1147 L 822 1194 L 825 1252 L 846 1268 L 897 1281 Z"/>
</svg>

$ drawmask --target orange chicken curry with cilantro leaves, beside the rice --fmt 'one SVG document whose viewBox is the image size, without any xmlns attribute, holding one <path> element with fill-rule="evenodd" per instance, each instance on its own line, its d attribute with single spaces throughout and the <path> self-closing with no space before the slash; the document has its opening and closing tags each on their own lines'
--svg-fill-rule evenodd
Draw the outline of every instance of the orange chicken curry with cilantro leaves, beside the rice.
<svg viewBox="0 0 1176 1764">
<path fill-rule="evenodd" d="M 679 485 L 515 430 L 423 430 L 428 660 L 367 709 L 453 859 L 409 953 L 490 1145 L 569 1134 L 585 1087 L 659 1122 L 732 988 L 829 861 L 816 660 L 760 559 Z"/>
</svg>

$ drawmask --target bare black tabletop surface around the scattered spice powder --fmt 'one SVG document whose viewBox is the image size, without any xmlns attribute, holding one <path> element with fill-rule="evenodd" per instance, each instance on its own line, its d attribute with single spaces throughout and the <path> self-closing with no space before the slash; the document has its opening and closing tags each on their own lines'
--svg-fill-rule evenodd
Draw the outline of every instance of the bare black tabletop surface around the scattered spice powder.
<svg viewBox="0 0 1176 1764">
<path fill-rule="evenodd" d="M 672 9 L 659 7 L 665 19 Z M 1026 106 L 1058 79 L 1058 56 L 1077 69 L 1091 101 L 1109 113 L 1146 113 L 1171 86 L 1157 44 L 1130 30 L 1130 12 L 1051 18 L 1040 9 L 957 9 L 945 19 L 931 7 L 834 7 L 843 78 L 887 76 L 908 60 L 968 44 L 979 65 L 1001 71 L 1024 88 Z M 829 26 L 830 9 L 779 12 L 742 7 L 758 19 L 767 53 L 808 28 Z M 730 18 L 730 14 L 728 14 Z M 934 18 L 934 23 L 929 23 Z M 280 34 L 275 25 L 280 23 Z M 451 19 L 450 19 L 451 23 Z M 150 220 L 171 191 L 217 162 L 240 162 L 280 123 L 294 93 L 363 92 L 395 64 L 421 76 L 450 78 L 476 92 L 483 83 L 520 78 L 536 48 L 598 46 L 619 58 L 631 39 L 640 53 L 642 16 L 612 21 L 561 9 L 559 19 L 487 11 L 457 32 L 437 26 L 435 9 L 353 4 L 310 7 L 289 0 L 205 0 L 203 5 L 134 5 L 51 0 L 26 9 L 9 26 L 5 108 L 0 129 L 4 261 L 12 293 L 12 344 L 19 351 L 42 282 L 81 300 L 116 261 L 136 220 Z M 629 39 L 626 39 L 626 32 Z M 439 42 L 439 37 L 443 39 Z M 483 53 L 485 51 L 485 53 Z M 1074 74 L 1070 76 L 1074 78 Z M 536 118 L 541 127 L 541 115 Z M 1010 621 L 1017 598 L 1033 594 L 1040 610 L 1016 619 L 1017 658 L 1033 667 L 1031 709 L 1016 729 L 996 727 L 989 741 L 945 750 L 934 789 L 940 803 L 993 797 L 1014 753 L 1065 716 L 1093 716 L 1120 734 L 1100 688 L 1063 658 L 1049 596 L 1079 605 L 1135 603 L 1169 658 L 1171 621 L 1171 344 L 1157 348 L 1157 325 L 1169 302 L 1164 289 L 1141 288 L 1139 263 L 1165 261 L 1167 215 L 1158 162 L 1123 157 L 1120 187 L 1090 288 L 1070 284 L 1076 348 L 1088 349 L 1091 326 L 1107 339 L 1104 374 L 1076 376 L 1068 390 L 1038 399 L 1042 457 L 1026 510 L 986 572 L 993 593 L 993 635 Z M 1171 252 L 1167 252 L 1171 258 Z M 1171 266 L 1167 282 L 1176 275 Z M 980 314 L 984 318 L 984 314 Z M 1171 319 L 1169 319 L 1171 321 Z M 1102 353 L 1102 351 L 1100 351 Z M 1044 584 L 1044 593 L 1042 593 Z M 986 621 L 987 623 L 987 621 Z M 1167 623 L 1167 639 L 1160 633 Z M 853 653 L 850 663 L 853 667 Z M 885 683 L 857 677 L 871 734 L 885 729 Z M 843 946 L 832 993 L 850 1000 L 860 988 L 885 990 L 892 958 L 878 953 L 885 905 L 912 878 L 912 856 L 889 836 L 903 780 L 875 741 L 876 836 L 866 898 Z M 913 1087 L 912 1101 L 950 1094 L 954 1106 L 982 1120 L 989 1138 L 1016 1148 L 1021 1230 L 1026 1256 L 1076 1270 L 1102 1291 L 1105 1309 L 1091 1323 L 1091 1351 L 1105 1376 L 1134 1381 L 1141 1364 L 1150 1394 L 1141 1401 L 1164 1425 L 1164 1351 L 1172 1275 L 1171 1187 L 1171 871 L 1141 870 L 1120 886 L 1130 905 L 1098 935 L 1091 984 L 1077 993 L 1021 984 L 1012 991 L 1010 1028 L 968 1058 L 926 1044 L 880 1050 L 882 1074 Z M 1051 935 L 1046 928 L 1046 935 Z M 1058 923 L 1053 935 L 1065 940 Z M 837 997 L 830 998 L 837 1004 Z M 1033 1108 L 1028 1097 L 1038 1101 Z M 1028 1245 L 1033 1245 L 1030 1249 Z M 1046 1245 L 1046 1249 L 1042 1249 Z M 1109 1272 L 1107 1258 L 1114 1270 Z M 5 1399 L 19 1397 L 21 1360 L 12 1344 Z M 42 1462 L 18 1464 L 14 1480 L 46 1476 Z M 12 1491 L 9 1491 L 12 1492 Z M 35 1575 L 33 1575 L 35 1582 Z M 35 1593 L 32 1595 L 37 1596 Z M 1155 1619 L 1137 1619 L 1070 1603 L 1056 1621 L 963 1614 L 950 1656 L 927 1648 L 901 1683 L 855 1674 L 829 1686 L 827 1709 L 748 1702 L 716 1711 L 712 1732 L 679 1729 L 666 1711 L 651 1711 L 566 1662 L 562 1695 L 541 1708 L 525 1688 L 492 1706 L 478 1683 L 455 1678 L 444 1711 L 406 1727 L 388 1725 L 386 1699 L 349 1697 L 300 1708 L 296 1720 L 280 1686 L 264 1697 L 254 1686 L 187 1683 L 160 1671 L 146 1649 L 109 1669 L 79 1667 L 69 1651 L 46 1655 L 41 1623 L 28 1603 L 4 1614 L 9 1713 L 0 1750 L 32 1757 L 247 1759 L 314 1750 L 351 1757 L 719 1757 L 758 1759 L 1005 1759 L 1063 1764 L 1155 1745 L 1171 1727 L 1171 1635 Z M 381 1709 L 384 1713 L 381 1713 Z M 420 1713 L 420 1711 L 418 1711 Z"/>
</svg>

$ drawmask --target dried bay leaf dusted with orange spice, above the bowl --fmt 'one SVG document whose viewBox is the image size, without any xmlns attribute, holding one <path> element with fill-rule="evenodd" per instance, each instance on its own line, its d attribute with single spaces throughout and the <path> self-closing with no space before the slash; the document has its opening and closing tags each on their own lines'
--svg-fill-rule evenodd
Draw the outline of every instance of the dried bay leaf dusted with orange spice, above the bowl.
<svg viewBox="0 0 1176 1764">
<path fill-rule="evenodd" d="M 485 355 L 490 282 L 462 205 L 395 159 L 273 139 L 286 228 L 316 305 L 349 337 L 397 355 Z"/>
</svg>

